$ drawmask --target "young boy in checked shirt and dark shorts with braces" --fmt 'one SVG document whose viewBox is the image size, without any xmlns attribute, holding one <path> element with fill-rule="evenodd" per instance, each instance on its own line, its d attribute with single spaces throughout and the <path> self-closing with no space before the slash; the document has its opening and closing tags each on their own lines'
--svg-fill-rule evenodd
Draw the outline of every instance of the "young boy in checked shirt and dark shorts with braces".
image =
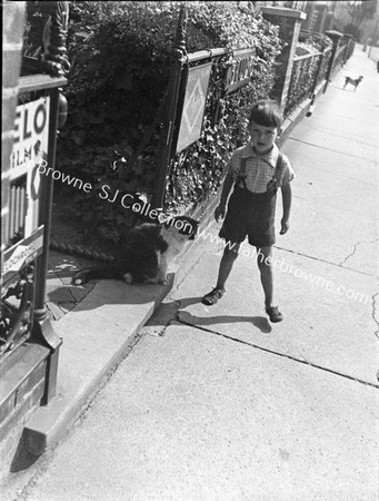
<svg viewBox="0 0 379 501">
<path fill-rule="evenodd" d="M 248 236 L 249 244 L 257 248 L 265 308 L 271 322 L 283 320 L 278 306 L 273 306 L 271 267 L 277 189 L 280 187 L 282 194 L 283 216 L 280 234 L 283 235 L 289 229 L 290 181 L 295 177 L 288 158 L 279 153 L 275 144 L 280 127 L 281 114 L 275 101 L 260 101 L 252 108 L 249 119 L 251 141 L 231 155 L 220 204 L 215 210 L 216 220 L 223 218 L 227 200 L 235 185 L 219 234 L 226 239 L 227 246 L 221 258 L 217 285 L 202 298 L 203 304 L 212 305 L 222 297 L 240 244 Z"/>
</svg>

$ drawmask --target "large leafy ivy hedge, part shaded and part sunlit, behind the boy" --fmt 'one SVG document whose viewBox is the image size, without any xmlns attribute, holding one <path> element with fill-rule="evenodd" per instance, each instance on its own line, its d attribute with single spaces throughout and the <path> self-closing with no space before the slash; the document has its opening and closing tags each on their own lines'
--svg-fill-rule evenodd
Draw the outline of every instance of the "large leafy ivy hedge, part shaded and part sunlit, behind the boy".
<svg viewBox="0 0 379 501">
<path fill-rule="evenodd" d="M 177 155 L 169 170 L 166 210 L 187 208 L 212 195 L 230 151 L 246 141 L 251 102 L 270 97 L 281 42 L 277 28 L 238 2 L 188 1 L 188 52 L 211 48 L 256 48 L 251 84 L 219 92 L 230 56 L 212 71 L 202 137 Z M 69 115 L 60 131 L 57 168 L 91 183 L 90 193 L 56 183 L 67 215 L 100 239 L 117 242 L 138 215 L 118 193 L 153 194 L 159 124 L 180 2 L 71 1 L 68 51 L 71 70 L 63 90 Z M 221 115 L 215 122 L 215 106 Z M 99 196 L 109 186 L 107 200 Z M 108 189 L 108 188 L 107 188 Z M 119 191 L 117 191 L 119 190 Z"/>
</svg>

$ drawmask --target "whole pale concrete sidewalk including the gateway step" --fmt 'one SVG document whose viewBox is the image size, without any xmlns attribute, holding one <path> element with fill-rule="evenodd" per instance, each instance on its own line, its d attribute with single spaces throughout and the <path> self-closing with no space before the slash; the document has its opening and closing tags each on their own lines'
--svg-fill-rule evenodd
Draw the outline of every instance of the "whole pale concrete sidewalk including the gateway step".
<svg viewBox="0 0 379 501">
<path fill-rule="evenodd" d="M 347 75 L 365 76 L 356 92 Z M 220 259 L 210 237 L 166 288 L 71 287 L 78 262 L 51 254 L 63 344 L 58 397 L 28 423 L 31 450 L 71 433 L 14 473 L 6 499 L 28 481 L 29 501 L 378 499 L 378 116 L 376 66 L 358 47 L 282 148 L 297 179 L 275 249 L 280 324 L 263 312 L 250 249 L 212 307 L 200 303 Z"/>
</svg>

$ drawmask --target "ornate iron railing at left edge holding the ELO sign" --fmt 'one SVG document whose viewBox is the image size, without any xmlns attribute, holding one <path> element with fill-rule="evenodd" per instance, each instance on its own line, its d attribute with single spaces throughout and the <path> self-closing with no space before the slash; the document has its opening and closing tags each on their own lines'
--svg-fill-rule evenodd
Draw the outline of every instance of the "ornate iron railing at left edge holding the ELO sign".
<svg viewBox="0 0 379 501">
<path fill-rule="evenodd" d="M 67 85 L 66 37 L 68 2 L 41 2 L 47 9 L 44 58 L 22 58 L 26 76 L 18 79 L 18 106 L 10 158 L 2 163 L 4 197 L 1 200 L 1 315 L 0 365 L 10 366 L 17 350 L 29 342 L 49 348 L 43 402 L 56 391 L 61 340 L 54 334 L 46 307 L 46 279 L 52 209 L 51 169 Z M 42 7 L 43 7 L 42 6 Z M 64 69 L 66 68 L 66 69 Z M 64 106 L 64 105 L 63 105 Z M 60 126 L 64 120 L 61 120 Z"/>
</svg>

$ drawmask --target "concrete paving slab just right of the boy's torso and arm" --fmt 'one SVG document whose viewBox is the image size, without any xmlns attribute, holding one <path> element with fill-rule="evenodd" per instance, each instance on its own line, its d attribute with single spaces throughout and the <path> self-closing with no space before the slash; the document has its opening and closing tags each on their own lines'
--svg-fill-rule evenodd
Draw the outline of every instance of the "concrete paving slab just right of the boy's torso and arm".
<svg viewBox="0 0 379 501">
<path fill-rule="evenodd" d="M 297 178 L 292 186 L 291 228 L 278 236 L 277 245 L 341 264 L 358 244 L 373 244 L 379 238 L 378 166 L 373 160 L 315 148 L 292 138 L 283 147 Z M 277 220 L 281 212 L 279 197 Z M 378 257 L 360 262 L 359 269 L 376 274 L 377 262 Z"/>
</svg>

